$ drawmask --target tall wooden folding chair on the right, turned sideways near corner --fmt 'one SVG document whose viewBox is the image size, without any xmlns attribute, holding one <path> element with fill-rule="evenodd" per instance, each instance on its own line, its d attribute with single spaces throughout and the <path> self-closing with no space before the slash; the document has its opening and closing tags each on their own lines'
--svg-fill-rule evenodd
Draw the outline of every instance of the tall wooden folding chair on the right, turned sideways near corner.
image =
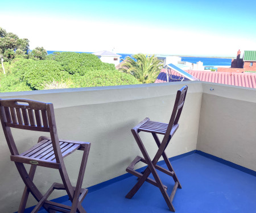
<svg viewBox="0 0 256 213">
<path fill-rule="evenodd" d="M 126 198 L 132 198 L 135 193 L 139 190 L 139 188 L 143 185 L 143 183 L 146 181 L 148 183 L 151 183 L 152 185 L 159 187 L 169 209 L 171 211 L 175 211 L 174 206 L 172 206 L 172 200 L 174 199 L 174 195 L 176 193 L 177 187 L 181 189 L 181 185 L 179 180 L 177 179 L 177 176 L 174 172 L 174 169 L 172 169 L 172 165 L 164 152 L 167 145 L 169 144 L 172 136 L 174 136 L 174 133 L 176 132 L 177 128 L 179 127 L 179 118 L 180 114 L 184 105 L 185 97 L 187 94 L 188 86 L 183 86 L 180 90 L 177 91 L 176 100 L 174 104 L 174 109 L 172 111 L 170 122 L 167 123 L 161 123 L 161 122 L 154 122 L 150 120 L 149 118 L 145 118 L 142 120 L 141 123 L 139 123 L 137 126 L 135 126 L 133 129 L 131 129 L 131 132 L 133 133 L 133 136 L 139 146 L 139 149 L 141 149 L 141 152 L 143 154 L 143 157 L 135 157 L 135 159 L 131 162 L 131 164 L 127 167 L 126 171 L 133 174 L 134 176 L 138 177 L 138 182 L 134 185 L 134 187 L 129 191 L 129 193 L 126 195 Z M 150 159 L 148 156 L 148 153 L 142 143 L 141 137 L 139 137 L 139 132 L 150 132 L 152 136 L 154 137 L 154 140 L 156 144 L 158 145 L 158 151 L 155 154 L 155 157 L 153 160 Z M 162 143 L 160 142 L 158 136 L 156 134 L 164 135 Z M 156 165 L 159 158 L 163 156 L 164 162 L 166 162 L 167 169 L 162 168 L 161 166 Z M 144 162 L 147 164 L 147 168 L 141 173 L 134 170 L 135 164 L 137 164 L 139 161 Z M 160 180 L 158 173 L 156 173 L 156 169 L 159 171 L 168 174 L 171 176 L 174 181 L 174 189 L 172 190 L 171 196 L 169 197 L 167 194 L 167 186 L 163 185 L 162 181 Z M 152 173 L 153 177 L 155 179 L 148 178 L 148 176 Z"/>
</svg>

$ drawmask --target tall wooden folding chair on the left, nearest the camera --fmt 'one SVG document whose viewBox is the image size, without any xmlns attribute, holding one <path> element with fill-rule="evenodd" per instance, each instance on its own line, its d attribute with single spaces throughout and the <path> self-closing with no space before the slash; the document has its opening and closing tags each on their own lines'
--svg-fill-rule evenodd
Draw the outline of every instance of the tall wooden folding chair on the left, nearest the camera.
<svg viewBox="0 0 256 213">
<path fill-rule="evenodd" d="M 38 212 L 44 207 L 47 212 L 83 212 L 82 200 L 88 193 L 87 189 L 81 189 L 84 178 L 86 162 L 88 159 L 90 143 L 73 140 L 59 140 L 55 123 L 52 103 L 43 103 L 28 99 L 0 99 L 1 123 L 6 141 L 11 152 L 11 161 L 15 162 L 20 177 L 26 187 L 23 192 L 18 212 L 24 212 L 28 194 L 31 193 L 38 204 L 32 212 Z M 51 137 L 39 137 L 38 144 L 26 152 L 19 154 L 16 148 L 11 128 L 22 130 L 49 132 Z M 76 187 L 71 185 L 63 158 L 76 150 L 84 151 L 79 170 Z M 27 173 L 23 164 L 31 164 Z M 53 183 L 45 195 L 42 195 L 33 183 L 36 166 L 58 169 L 63 184 Z M 72 206 L 47 201 L 53 190 L 66 190 Z"/>
</svg>

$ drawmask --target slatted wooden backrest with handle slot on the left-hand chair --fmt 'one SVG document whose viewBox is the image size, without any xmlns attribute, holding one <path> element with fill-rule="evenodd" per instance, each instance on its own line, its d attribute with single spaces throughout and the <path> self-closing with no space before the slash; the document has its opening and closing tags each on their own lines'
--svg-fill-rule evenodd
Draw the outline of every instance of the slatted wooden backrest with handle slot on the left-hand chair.
<svg viewBox="0 0 256 213">
<path fill-rule="evenodd" d="M 11 154 L 19 153 L 10 128 L 50 132 L 58 162 L 61 152 L 52 103 L 29 99 L 0 99 L 0 118 Z"/>
</svg>

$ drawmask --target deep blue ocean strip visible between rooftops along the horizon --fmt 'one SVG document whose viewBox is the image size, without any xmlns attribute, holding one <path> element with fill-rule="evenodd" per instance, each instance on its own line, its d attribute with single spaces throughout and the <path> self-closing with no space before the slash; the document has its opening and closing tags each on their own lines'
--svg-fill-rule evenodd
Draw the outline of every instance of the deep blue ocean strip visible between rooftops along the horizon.
<svg viewBox="0 0 256 213">
<path fill-rule="evenodd" d="M 51 54 L 53 52 L 63 52 L 63 51 L 47 51 L 48 54 Z M 77 53 L 92 53 L 92 52 L 77 52 Z M 121 55 L 120 59 L 125 59 L 127 56 L 132 56 L 132 54 L 125 54 L 125 53 L 117 53 L 118 55 Z M 210 57 L 185 57 L 180 56 L 181 61 L 187 61 L 191 63 L 196 63 L 197 61 L 203 62 L 204 66 L 211 67 L 217 67 L 217 66 L 231 66 L 232 59 L 223 59 L 223 58 L 210 58 Z M 121 60 L 120 60 L 121 62 Z"/>
</svg>

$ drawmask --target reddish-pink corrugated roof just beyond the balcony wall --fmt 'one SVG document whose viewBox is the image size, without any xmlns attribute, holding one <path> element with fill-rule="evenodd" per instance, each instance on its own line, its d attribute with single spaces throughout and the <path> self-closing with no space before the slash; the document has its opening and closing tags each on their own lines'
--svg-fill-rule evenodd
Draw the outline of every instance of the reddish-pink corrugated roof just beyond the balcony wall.
<svg viewBox="0 0 256 213">
<path fill-rule="evenodd" d="M 209 71 L 186 70 L 187 73 L 198 78 L 200 81 L 222 83 L 226 85 L 243 86 L 256 89 L 256 73 L 222 73 Z M 172 70 L 172 81 L 181 75 Z M 187 80 L 186 78 L 184 80 Z M 170 80 L 169 80 L 170 81 Z M 167 82 L 166 69 L 162 69 L 155 83 Z"/>
</svg>

